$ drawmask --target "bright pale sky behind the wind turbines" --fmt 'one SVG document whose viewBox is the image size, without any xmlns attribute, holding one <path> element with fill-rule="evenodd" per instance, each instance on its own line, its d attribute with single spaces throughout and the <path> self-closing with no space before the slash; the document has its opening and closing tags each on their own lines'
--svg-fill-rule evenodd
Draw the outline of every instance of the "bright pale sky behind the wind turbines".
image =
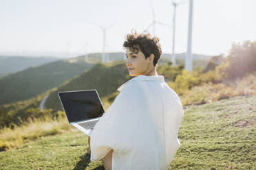
<svg viewBox="0 0 256 170">
<path fill-rule="evenodd" d="M 175 0 L 183 2 L 186 0 Z M 173 5 L 171 0 L 152 0 L 163 53 L 172 51 Z M 233 42 L 256 40 L 255 0 L 193 0 L 192 52 L 228 54 Z M 0 55 L 24 51 L 93 53 L 123 52 L 125 36 L 141 33 L 152 23 L 150 0 L 0 0 Z M 189 3 L 178 5 L 175 53 L 186 52 Z M 150 27 L 148 32 L 153 34 Z M 70 56 L 69 56 L 70 55 Z"/>
</svg>

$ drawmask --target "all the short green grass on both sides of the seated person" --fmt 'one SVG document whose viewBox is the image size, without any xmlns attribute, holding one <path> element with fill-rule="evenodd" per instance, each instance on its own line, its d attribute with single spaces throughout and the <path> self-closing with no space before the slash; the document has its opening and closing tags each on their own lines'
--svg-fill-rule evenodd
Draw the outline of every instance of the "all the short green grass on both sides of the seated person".
<svg viewBox="0 0 256 170">
<path fill-rule="evenodd" d="M 255 101 L 242 96 L 186 106 L 169 169 L 255 169 Z M 103 169 L 89 162 L 87 147 L 82 132 L 43 136 L 0 152 L 0 169 Z"/>
</svg>

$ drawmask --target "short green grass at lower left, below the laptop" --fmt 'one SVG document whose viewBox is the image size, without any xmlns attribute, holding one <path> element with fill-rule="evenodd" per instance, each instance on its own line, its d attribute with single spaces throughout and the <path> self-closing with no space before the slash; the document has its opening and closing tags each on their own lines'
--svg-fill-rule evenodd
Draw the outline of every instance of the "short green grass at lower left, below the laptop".
<svg viewBox="0 0 256 170">
<path fill-rule="evenodd" d="M 101 162 L 89 163 L 85 153 L 87 137 L 67 132 L 26 143 L 19 149 L 2 152 L 0 169 L 94 169 Z M 89 167 L 88 167 L 89 165 Z"/>
</svg>

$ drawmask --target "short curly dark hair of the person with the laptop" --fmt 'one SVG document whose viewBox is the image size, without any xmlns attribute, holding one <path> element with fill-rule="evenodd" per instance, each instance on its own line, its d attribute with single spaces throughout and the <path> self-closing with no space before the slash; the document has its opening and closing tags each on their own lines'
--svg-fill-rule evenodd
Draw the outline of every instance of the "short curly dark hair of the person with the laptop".
<svg viewBox="0 0 256 170">
<path fill-rule="evenodd" d="M 138 45 L 138 47 L 136 47 Z M 138 53 L 139 50 L 144 53 L 145 58 L 149 58 L 151 53 L 155 56 L 153 59 L 153 65 L 156 66 L 160 56 L 162 54 L 161 45 L 159 43 L 159 38 L 156 36 L 151 36 L 149 33 L 143 32 L 142 34 L 137 34 L 136 31 L 131 30 L 131 34 L 127 34 L 126 40 L 122 45 L 125 48 L 130 48 L 131 51 L 136 51 Z"/>
</svg>

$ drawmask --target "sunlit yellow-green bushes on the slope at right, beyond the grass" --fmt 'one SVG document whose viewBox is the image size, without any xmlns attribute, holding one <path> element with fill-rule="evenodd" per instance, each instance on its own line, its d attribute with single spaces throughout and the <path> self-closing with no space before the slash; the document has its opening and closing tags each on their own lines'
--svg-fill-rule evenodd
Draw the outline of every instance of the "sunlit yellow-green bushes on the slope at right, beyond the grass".
<svg viewBox="0 0 256 170">
<path fill-rule="evenodd" d="M 169 73 L 170 75 L 170 73 Z M 204 70 L 182 70 L 169 86 L 183 105 L 205 104 L 239 95 L 256 95 L 256 41 L 233 45 L 227 58 L 215 56 Z"/>
</svg>

